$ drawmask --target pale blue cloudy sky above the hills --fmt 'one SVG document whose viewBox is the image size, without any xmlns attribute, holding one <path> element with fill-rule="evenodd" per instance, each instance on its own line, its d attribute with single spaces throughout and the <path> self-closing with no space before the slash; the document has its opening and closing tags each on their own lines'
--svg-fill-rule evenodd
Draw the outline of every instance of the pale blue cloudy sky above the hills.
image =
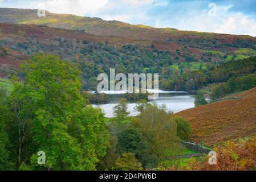
<svg viewBox="0 0 256 182">
<path fill-rule="evenodd" d="M 0 7 L 46 9 L 158 28 L 256 36 L 256 0 L 0 0 Z"/>
</svg>

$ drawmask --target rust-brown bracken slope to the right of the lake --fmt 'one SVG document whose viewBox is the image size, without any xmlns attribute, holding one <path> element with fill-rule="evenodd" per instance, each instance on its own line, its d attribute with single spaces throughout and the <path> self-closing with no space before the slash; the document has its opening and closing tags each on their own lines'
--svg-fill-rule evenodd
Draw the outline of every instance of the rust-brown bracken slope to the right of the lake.
<svg viewBox="0 0 256 182">
<path fill-rule="evenodd" d="M 192 140 L 209 145 L 256 135 L 256 88 L 224 100 L 181 111 L 192 123 Z"/>
</svg>

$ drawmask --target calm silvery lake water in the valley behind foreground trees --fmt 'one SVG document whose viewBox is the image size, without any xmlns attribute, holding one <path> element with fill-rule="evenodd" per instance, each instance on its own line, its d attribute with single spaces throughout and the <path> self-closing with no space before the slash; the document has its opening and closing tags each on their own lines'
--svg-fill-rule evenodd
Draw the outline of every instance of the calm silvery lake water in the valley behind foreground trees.
<svg viewBox="0 0 256 182">
<path fill-rule="evenodd" d="M 121 98 L 123 98 L 122 93 L 108 93 L 109 96 L 109 104 L 101 104 L 94 105 L 94 107 L 101 107 L 105 112 L 105 117 L 111 118 L 113 117 L 113 107 L 119 104 Z M 159 98 L 155 101 L 157 105 L 165 104 L 167 109 L 173 111 L 174 113 L 178 113 L 179 111 L 190 109 L 194 107 L 194 95 L 192 93 L 185 92 L 165 92 L 160 90 Z M 136 103 L 128 104 L 128 111 L 130 111 L 131 116 L 136 116 L 137 113 L 133 108 L 136 106 Z"/>
</svg>

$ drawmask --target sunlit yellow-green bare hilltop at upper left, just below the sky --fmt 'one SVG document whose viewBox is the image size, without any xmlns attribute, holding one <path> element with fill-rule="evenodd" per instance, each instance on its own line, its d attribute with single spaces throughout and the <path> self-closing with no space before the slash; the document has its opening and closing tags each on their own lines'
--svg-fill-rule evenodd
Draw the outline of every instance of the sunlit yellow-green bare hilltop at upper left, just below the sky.
<svg viewBox="0 0 256 182">
<path fill-rule="evenodd" d="M 37 10 L 29 9 L 0 9 L 0 22 L 18 24 L 47 25 L 54 28 L 85 31 L 94 35 L 125 36 L 128 38 L 155 39 L 157 34 L 172 33 L 174 28 L 153 28 L 143 25 L 131 25 L 116 20 L 105 21 L 100 18 L 90 18 L 71 14 L 54 14 L 46 11 L 46 17 L 39 18 Z"/>
</svg>

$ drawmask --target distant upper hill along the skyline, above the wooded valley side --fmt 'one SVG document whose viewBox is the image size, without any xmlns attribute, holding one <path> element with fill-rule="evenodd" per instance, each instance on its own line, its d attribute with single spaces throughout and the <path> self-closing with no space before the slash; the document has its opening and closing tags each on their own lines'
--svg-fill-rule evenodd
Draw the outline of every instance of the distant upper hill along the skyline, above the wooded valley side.
<svg viewBox="0 0 256 182">
<path fill-rule="evenodd" d="M 153 28 L 144 25 L 132 25 L 116 20 L 105 21 L 70 14 L 46 12 L 46 17 L 38 17 L 38 10 L 0 9 L 0 22 L 45 25 L 87 32 L 99 36 L 119 36 L 121 38 L 151 41 L 159 49 L 176 50 L 190 47 L 195 54 L 202 50 L 221 52 L 234 51 L 236 48 L 253 48 L 256 39 L 247 35 L 214 34 L 196 31 L 179 31 L 174 28 Z"/>
</svg>

